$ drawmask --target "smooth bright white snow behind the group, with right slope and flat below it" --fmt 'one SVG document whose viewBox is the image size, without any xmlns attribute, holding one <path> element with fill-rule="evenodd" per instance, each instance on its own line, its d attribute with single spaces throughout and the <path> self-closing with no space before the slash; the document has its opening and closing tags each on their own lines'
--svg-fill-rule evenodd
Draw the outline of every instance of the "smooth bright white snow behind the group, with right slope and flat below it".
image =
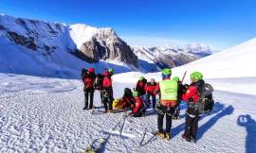
<svg viewBox="0 0 256 153">
<path fill-rule="evenodd" d="M 180 78 L 187 71 L 185 82 L 190 83 L 190 74 L 194 71 L 203 73 L 207 82 L 216 90 L 256 94 L 256 39 L 230 47 L 229 49 L 215 53 L 203 59 L 197 59 L 189 64 L 175 67 L 172 76 Z M 131 72 L 114 76 L 119 82 L 136 82 L 138 76 L 161 79 L 160 73 Z"/>
</svg>

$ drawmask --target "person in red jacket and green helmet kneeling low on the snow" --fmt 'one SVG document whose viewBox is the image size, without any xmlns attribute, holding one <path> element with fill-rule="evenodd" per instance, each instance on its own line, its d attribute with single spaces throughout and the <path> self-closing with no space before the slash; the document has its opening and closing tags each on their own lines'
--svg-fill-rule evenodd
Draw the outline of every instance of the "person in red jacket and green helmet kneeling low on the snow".
<svg viewBox="0 0 256 153">
<path fill-rule="evenodd" d="M 136 91 L 133 92 L 133 95 L 135 97 L 135 103 L 132 104 L 132 112 L 130 115 L 134 117 L 141 117 L 144 114 L 143 101 Z"/>
</svg>

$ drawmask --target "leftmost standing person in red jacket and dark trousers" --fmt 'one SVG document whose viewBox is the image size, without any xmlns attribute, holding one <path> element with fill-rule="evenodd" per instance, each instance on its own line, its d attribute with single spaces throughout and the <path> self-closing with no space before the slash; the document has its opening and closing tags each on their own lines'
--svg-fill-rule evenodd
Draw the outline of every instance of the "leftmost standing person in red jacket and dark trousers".
<svg viewBox="0 0 256 153">
<path fill-rule="evenodd" d="M 82 82 L 83 82 L 83 93 L 85 106 L 83 110 L 93 109 L 93 97 L 94 97 L 94 81 L 95 81 L 94 68 L 83 69 Z M 88 108 L 88 98 L 90 96 L 90 105 Z"/>
</svg>

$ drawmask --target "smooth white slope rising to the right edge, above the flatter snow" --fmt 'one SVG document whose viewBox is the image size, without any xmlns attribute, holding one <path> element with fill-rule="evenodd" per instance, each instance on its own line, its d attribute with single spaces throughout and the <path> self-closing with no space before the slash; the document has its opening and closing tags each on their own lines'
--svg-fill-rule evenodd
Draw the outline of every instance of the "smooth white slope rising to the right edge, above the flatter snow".
<svg viewBox="0 0 256 153">
<path fill-rule="evenodd" d="M 256 76 L 256 38 L 230 47 L 209 57 L 174 68 L 174 74 L 185 70 L 202 72 L 206 78 Z"/>
</svg>

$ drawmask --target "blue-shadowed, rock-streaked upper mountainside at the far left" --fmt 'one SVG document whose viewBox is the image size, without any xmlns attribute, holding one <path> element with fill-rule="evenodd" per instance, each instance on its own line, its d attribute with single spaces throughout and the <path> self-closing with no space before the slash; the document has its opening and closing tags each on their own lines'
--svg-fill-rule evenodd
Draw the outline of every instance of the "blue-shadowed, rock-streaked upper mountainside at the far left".
<svg viewBox="0 0 256 153">
<path fill-rule="evenodd" d="M 0 16 L 1 38 L 45 54 L 52 53 L 60 47 L 55 41 L 65 32 L 65 27 L 60 24 Z"/>
</svg>

